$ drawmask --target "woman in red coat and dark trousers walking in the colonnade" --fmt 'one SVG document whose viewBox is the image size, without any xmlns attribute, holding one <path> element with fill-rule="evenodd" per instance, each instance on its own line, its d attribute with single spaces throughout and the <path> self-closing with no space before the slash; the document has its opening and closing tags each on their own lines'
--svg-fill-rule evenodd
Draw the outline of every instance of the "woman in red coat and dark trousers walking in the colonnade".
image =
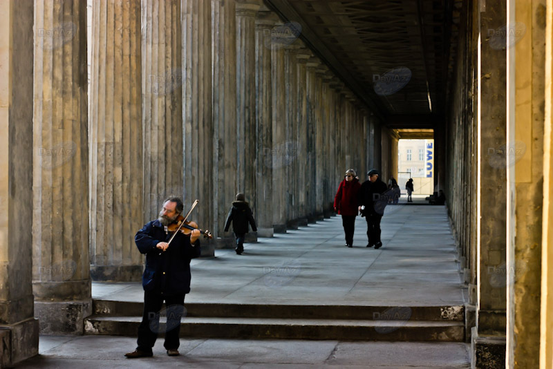
<svg viewBox="0 0 553 369">
<path fill-rule="evenodd" d="M 334 210 L 341 215 L 341 223 L 346 233 L 346 246 L 353 247 L 353 232 L 357 216 L 357 193 L 361 185 L 353 169 L 346 171 L 346 178 L 340 182 L 334 197 Z"/>
</svg>

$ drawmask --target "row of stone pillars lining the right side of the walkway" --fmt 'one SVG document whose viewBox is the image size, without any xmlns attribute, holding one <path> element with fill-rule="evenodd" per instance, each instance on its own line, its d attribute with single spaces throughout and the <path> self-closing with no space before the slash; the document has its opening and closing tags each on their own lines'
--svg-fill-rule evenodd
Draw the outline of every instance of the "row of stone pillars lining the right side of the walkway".
<svg viewBox="0 0 553 369">
<path fill-rule="evenodd" d="M 462 14 L 447 202 L 473 366 L 552 368 L 545 2 L 468 2 Z"/>
</svg>

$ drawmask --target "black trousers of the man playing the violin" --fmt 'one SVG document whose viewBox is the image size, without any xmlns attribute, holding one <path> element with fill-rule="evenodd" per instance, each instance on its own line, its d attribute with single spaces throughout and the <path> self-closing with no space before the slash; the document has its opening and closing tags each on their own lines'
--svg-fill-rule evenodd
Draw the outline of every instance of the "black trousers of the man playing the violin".
<svg viewBox="0 0 553 369">
<path fill-rule="evenodd" d="M 167 314 L 167 324 L 165 329 L 160 331 L 160 310 L 165 301 L 165 310 L 162 314 Z M 158 292 L 144 292 L 144 312 L 142 322 L 138 326 L 138 350 L 151 352 L 151 348 L 156 343 L 158 333 L 165 332 L 166 350 L 177 349 L 180 342 L 178 333 L 180 332 L 180 319 L 185 314 L 185 295 L 163 296 Z"/>
</svg>

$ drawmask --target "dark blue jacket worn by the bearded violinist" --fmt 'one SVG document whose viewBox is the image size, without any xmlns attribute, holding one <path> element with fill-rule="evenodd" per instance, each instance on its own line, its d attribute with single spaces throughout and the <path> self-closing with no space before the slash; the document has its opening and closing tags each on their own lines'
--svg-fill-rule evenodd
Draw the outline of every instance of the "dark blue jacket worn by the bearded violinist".
<svg viewBox="0 0 553 369">
<path fill-rule="evenodd" d="M 144 225 L 134 237 L 140 253 L 146 254 L 146 268 L 142 274 L 144 291 L 164 296 L 190 292 L 190 260 L 200 256 L 200 240 L 190 245 L 190 236 L 179 232 L 165 252 L 156 247 L 160 242 L 169 242 L 171 236 L 173 234 L 166 233 L 156 219 Z"/>
</svg>

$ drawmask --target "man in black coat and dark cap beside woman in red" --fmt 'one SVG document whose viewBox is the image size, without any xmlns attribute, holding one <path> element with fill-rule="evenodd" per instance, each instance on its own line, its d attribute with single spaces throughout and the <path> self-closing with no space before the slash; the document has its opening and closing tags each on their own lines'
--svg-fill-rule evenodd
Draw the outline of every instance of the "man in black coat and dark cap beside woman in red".
<svg viewBox="0 0 553 369">
<path fill-rule="evenodd" d="M 384 215 L 384 208 L 388 203 L 386 183 L 380 179 L 380 173 L 376 169 L 371 169 L 367 173 L 366 180 L 359 190 L 359 211 L 367 220 L 367 247 L 382 247 L 380 240 L 380 220 Z"/>
</svg>

